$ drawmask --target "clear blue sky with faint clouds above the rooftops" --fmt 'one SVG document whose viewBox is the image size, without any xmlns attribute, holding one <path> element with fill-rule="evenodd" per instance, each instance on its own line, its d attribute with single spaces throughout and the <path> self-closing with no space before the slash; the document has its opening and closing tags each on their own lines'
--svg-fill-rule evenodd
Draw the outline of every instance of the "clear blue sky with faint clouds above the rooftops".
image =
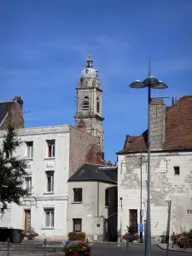
<svg viewBox="0 0 192 256">
<path fill-rule="evenodd" d="M 102 82 L 106 160 L 116 160 L 126 134 L 147 127 L 147 91 L 128 84 L 146 78 L 149 55 L 153 75 L 169 85 L 153 96 L 192 94 L 191 0 L 0 4 L 0 100 L 22 97 L 26 127 L 74 125 L 88 54 Z"/>
</svg>

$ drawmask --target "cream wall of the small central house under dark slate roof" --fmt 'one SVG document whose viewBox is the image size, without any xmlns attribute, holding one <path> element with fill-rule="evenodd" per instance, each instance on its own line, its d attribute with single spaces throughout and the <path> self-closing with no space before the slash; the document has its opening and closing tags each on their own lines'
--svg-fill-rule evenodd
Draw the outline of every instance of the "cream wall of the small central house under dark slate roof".
<svg viewBox="0 0 192 256">
<path fill-rule="evenodd" d="M 97 216 L 97 182 L 68 183 L 67 233 L 73 231 L 73 218 L 82 218 L 82 231 L 90 241 L 94 235 L 103 236 L 103 218 L 108 218 L 108 208 L 105 207 L 105 189 L 113 186 L 99 183 L 99 211 Z M 82 188 L 82 203 L 73 201 L 73 189 Z M 100 227 L 96 227 L 100 224 Z"/>
</svg>

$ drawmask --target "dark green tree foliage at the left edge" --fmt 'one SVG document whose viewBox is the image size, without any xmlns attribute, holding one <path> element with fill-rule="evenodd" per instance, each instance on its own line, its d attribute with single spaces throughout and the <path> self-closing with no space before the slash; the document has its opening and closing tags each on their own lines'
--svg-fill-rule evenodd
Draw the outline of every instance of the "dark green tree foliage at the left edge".
<svg viewBox="0 0 192 256">
<path fill-rule="evenodd" d="M 16 131 L 9 125 L 3 146 L 0 148 L 0 204 L 3 213 L 8 204 L 15 202 L 20 206 L 20 198 L 27 195 L 23 183 L 26 176 L 27 163 L 25 159 L 15 155 L 15 149 L 22 142 L 16 137 Z"/>
</svg>

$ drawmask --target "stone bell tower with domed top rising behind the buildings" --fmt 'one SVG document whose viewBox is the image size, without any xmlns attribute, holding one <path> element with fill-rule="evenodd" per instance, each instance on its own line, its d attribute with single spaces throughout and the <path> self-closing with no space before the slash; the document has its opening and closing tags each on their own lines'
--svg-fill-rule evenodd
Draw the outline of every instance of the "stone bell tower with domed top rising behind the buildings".
<svg viewBox="0 0 192 256">
<path fill-rule="evenodd" d="M 98 150 L 104 154 L 104 132 L 102 131 L 102 89 L 98 70 L 93 68 L 89 55 L 86 67 L 82 71 L 77 90 L 77 112 L 75 125 L 80 121 L 85 123 L 85 130 L 96 137 Z"/>
</svg>

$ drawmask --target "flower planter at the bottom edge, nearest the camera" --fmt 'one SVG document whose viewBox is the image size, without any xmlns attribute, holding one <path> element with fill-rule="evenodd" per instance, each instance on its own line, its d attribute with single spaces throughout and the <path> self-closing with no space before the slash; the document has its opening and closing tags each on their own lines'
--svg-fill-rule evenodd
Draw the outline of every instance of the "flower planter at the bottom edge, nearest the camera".
<svg viewBox="0 0 192 256">
<path fill-rule="evenodd" d="M 63 252 L 66 256 L 89 256 L 90 255 L 90 246 L 84 242 L 79 242 L 71 245 L 64 245 Z"/>
</svg>

